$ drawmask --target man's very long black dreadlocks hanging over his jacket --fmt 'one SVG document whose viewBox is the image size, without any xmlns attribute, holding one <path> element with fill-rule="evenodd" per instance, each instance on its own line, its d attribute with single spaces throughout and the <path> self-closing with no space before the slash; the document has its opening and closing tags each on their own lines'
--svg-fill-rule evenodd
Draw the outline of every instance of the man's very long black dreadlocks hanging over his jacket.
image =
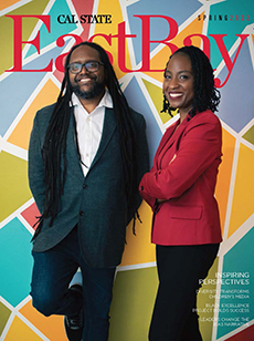
<svg viewBox="0 0 254 341">
<path fill-rule="evenodd" d="M 51 219 L 50 226 L 52 226 L 53 220 L 61 207 L 61 196 L 64 190 L 67 167 L 66 135 L 70 117 L 73 111 L 73 107 L 70 107 L 73 91 L 70 83 L 67 65 L 70 64 L 70 59 L 73 51 L 84 45 L 95 49 L 99 53 L 100 61 L 104 64 L 105 84 L 113 99 L 114 113 L 116 115 L 117 126 L 119 128 L 119 143 L 121 148 L 124 178 L 126 180 L 125 187 L 129 208 L 133 205 L 131 199 L 134 198 L 134 193 L 137 190 L 136 138 L 130 108 L 124 93 L 120 90 L 118 80 L 109 62 L 106 51 L 96 43 L 87 41 L 82 42 L 77 45 L 74 45 L 66 56 L 64 79 L 45 134 L 42 151 L 45 169 L 44 210 L 38 221 L 39 226 L 33 238 L 35 238 L 40 232 L 43 220 L 45 218 Z M 78 151 L 78 144 L 76 143 L 76 145 Z M 61 170 L 62 163 L 64 165 L 63 172 Z"/>
</svg>

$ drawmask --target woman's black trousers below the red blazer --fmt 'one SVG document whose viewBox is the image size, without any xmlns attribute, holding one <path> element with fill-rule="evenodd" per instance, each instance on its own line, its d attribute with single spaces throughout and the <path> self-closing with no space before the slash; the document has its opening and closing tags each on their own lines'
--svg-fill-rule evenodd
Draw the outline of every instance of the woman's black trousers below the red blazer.
<svg viewBox="0 0 254 341">
<path fill-rule="evenodd" d="M 157 246 L 159 287 L 150 341 L 202 341 L 197 314 L 200 280 L 208 276 L 219 245 Z"/>
</svg>

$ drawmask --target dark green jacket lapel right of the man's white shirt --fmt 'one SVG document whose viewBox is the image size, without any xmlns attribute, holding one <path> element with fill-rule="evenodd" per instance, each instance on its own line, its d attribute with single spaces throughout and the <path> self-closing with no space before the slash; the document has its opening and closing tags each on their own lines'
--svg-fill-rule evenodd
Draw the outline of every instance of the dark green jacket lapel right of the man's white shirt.
<svg viewBox="0 0 254 341">
<path fill-rule="evenodd" d="M 103 126 L 103 135 L 102 140 L 98 146 L 98 151 L 93 159 L 93 163 L 91 165 L 91 168 L 97 163 L 99 157 L 103 155 L 105 148 L 107 147 L 112 135 L 114 134 L 116 130 L 116 118 L 113 108 L 106 108 L 105 110 L 105 118 L 104 118 L 104 126 Z M 89 169 L 91 169 L 89 168 Z"/>
</svg>

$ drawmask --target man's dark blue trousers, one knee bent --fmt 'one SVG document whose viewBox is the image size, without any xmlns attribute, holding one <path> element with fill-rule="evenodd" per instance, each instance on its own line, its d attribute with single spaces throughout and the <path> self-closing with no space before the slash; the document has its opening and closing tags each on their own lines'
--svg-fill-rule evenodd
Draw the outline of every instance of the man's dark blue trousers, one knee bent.
<svg viewBox="0 0 254 341">
<path fill-rule="evenodd" d="M 85 264 L 76 227 L 54 248 L 32 255 L 34 266 L 31 296 L 34 308 L 47 317 L 73 316 L 84 307 L 83 341 L 106 341 L 116 268 L 89 268 Z M 83 277 L 84 301 L 68 290 L 78 267 Z"/>
</svg>

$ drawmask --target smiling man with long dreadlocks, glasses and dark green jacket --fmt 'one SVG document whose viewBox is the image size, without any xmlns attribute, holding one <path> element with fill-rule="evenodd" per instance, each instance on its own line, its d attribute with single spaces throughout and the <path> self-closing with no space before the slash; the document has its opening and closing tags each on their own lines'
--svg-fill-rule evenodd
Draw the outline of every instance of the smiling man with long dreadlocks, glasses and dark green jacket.
<svg viewBox="0 0 254 341">
<path fill-rule="evenodd" d="M 44 316 L 65 316 L 68 340 L 108 339 L 115 269 L 148 167 L 145 120 L 128 106 L 107 53 L 73 46 L 57 102 L 36 113 L 29 147 L 41 213 L 31 296 Z M 83 287 L 70 287 L 78 267 Z"/>
</svg>

